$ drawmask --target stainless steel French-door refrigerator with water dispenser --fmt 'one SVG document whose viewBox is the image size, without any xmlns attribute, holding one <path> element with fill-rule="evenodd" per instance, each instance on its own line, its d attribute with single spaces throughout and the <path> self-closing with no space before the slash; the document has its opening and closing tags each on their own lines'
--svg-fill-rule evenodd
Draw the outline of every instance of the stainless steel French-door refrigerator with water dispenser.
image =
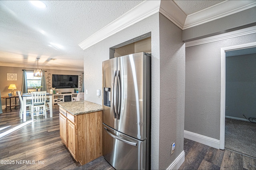
<svg viewBox="0 0 256 170">
<path fill-rule="evenodd" d="M 103 61 L 102 147 L 116 169 L 150 169 L 151 55 Z"/>
</svg>

